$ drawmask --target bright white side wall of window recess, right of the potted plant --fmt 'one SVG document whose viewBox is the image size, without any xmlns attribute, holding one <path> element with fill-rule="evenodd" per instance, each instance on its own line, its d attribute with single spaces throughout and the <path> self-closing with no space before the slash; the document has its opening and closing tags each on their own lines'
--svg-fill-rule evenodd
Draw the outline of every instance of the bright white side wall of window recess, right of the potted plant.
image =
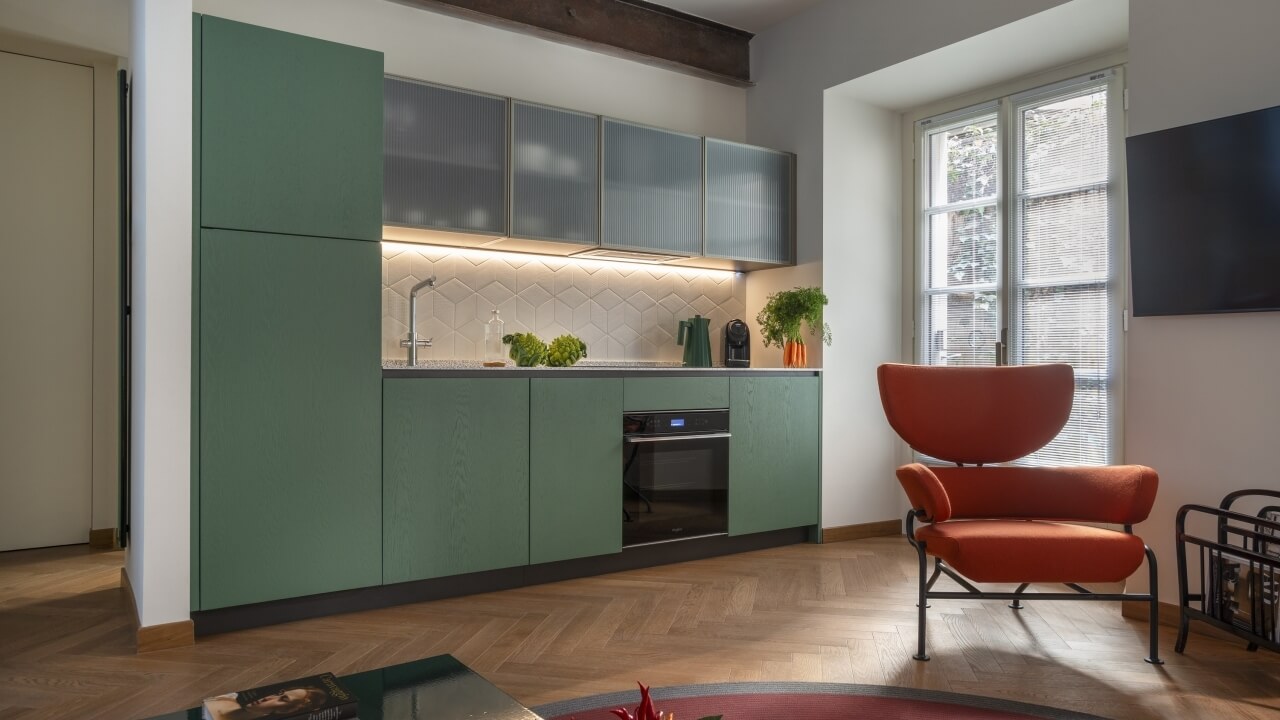
<svg viewBox="0 0 1280 720">
<path fill-rule="evenodd" d="M 822 284 L 842 341 L 827 348 L 823 374 L 822 524 L 831 528 L 905 512 L 892 473 L 897 436 L 876 384 L 876 366 L 899 360 L 902 334 L 902 155 L 899 113 L 828 90 L 823 115 Z"/>
</svg>

